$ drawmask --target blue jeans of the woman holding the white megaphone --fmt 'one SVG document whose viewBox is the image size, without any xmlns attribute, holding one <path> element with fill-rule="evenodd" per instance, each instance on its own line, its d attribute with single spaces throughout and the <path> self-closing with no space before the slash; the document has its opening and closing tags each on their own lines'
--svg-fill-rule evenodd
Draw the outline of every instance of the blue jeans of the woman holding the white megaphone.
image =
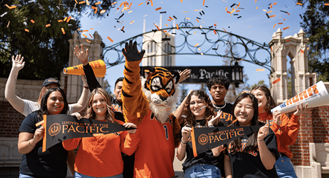
<svg viewBox="0 0 329 178">
<path fill-rule="evenodd" d="M 289 157 L 282 156 L 276 160 L 274 166 L 279 178 L 297 178 L 295 169 L 293 168 Z"/>
</svg>

